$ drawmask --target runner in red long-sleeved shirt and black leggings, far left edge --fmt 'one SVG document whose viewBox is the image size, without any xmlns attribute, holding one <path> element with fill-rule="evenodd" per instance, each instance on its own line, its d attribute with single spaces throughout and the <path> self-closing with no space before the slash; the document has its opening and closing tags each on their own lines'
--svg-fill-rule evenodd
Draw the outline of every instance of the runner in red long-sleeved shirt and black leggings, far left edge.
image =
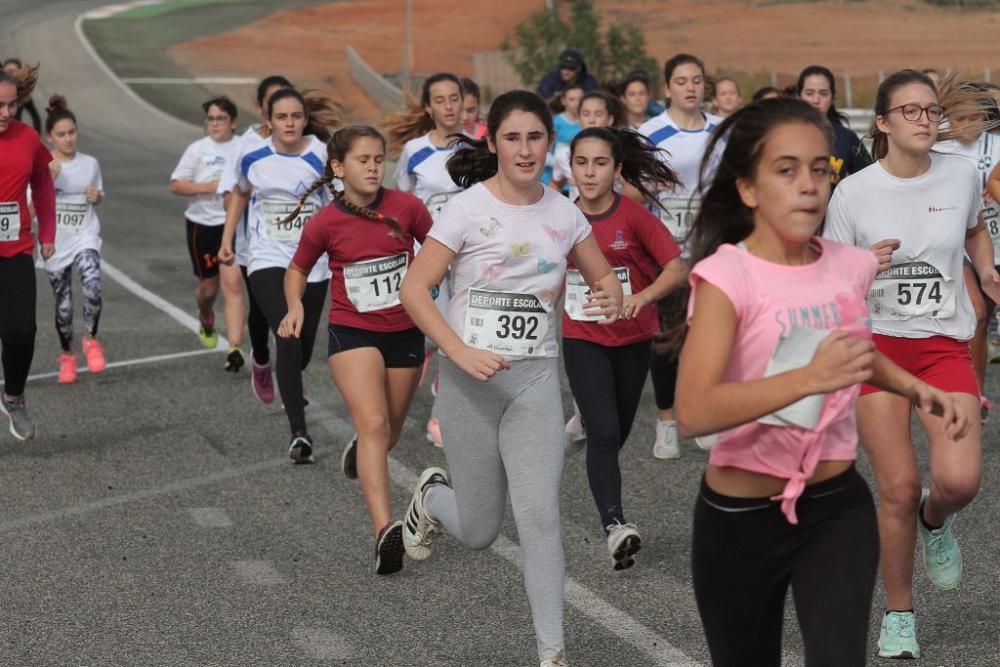
<svg viewBox="0 0 1000 667">
<path fill-rule="evenodd" d="M 56 236 L 55 188 L 49 173 L 52 155 L 37 132 L 14 118 L 17 101 L 31 95 L 37 79 L 37 66 L 24 68 L 17 78 L 0 72 L 0 348 L 4 376 L 0 410 L 19 440 L 35 437 L 35 425 L 24 403 L 36 330 L 29 185 L 45 259 L 55 252 Z"/>
</svg>

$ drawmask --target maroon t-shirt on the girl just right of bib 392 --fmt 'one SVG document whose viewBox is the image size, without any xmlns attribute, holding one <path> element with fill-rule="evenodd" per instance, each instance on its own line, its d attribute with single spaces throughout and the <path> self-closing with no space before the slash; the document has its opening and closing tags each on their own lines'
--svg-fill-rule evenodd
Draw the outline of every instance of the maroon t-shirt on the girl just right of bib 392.
<svg viewBox="0 0 1000 667">
<path fill-rule="evenodd" d="M 663 223 L 628 197 L 615 195 L 611 208 L 598 215 L 587 215 L 587 220 L 611 267 L 619 272 L 628 269 L 632 294 L 649 287 L 660 275 L 663 265 L 681 254 Z M 568 268 L 575 267 L 570 263 Z M 567 288 L 566 298 L 572 297 Z M 609 325 L 574 320 L 563 311 L 563 338 L 577 338 L 607 347 L 649 340 L 659 328 L 656 303 L 647 305 L 636 317 Z"/>
</svg>

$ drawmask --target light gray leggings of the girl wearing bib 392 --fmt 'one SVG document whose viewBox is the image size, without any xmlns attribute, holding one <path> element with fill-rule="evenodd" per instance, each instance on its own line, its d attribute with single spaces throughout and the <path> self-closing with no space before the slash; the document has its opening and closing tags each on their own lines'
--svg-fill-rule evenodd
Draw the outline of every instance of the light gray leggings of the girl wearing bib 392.
<svg viewBox="0 0 1000 667">
<path fill-rule="evenodd" d="M 545 660 L 563 648 L 558 360 L 514 361 L 489 382 L 445 358 L 440 372 L 441 437 L 454 490 L 428 490 L 427 511 L 466 546 L 486 549 L 500 532 L 510 489 L 538 655 Z"/>
</svg>

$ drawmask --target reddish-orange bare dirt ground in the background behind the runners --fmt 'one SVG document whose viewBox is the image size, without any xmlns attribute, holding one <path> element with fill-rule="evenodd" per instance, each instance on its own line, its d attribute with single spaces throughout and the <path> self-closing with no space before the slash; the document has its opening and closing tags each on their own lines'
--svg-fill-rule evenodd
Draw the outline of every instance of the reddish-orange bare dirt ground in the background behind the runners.
<svg viewBox="0 0 1000 667">
<path fill-rule="evenodd" d="M 417 72 L 473 74 L 472 54 L 496 50 L 542 0 L 414 0 Z M 740 0 L 596 0 L 609 19 L 641 25 L 649 51 L 702 56 L 713 71 L 783 74 L 822 63 L 849 71 L 861 87 L 878 70 L 964 67 L 1000 79 L 1000 13 L 948 11 L 920 0 L 751 2 Z M 403 59 L 401 0 L 342 0 L 281 11 L 240 30 L 179 44 L 170 54 L 195 74 L 259 76 L 283 72 L 303 86 L 332 91 L 359 119 L 376 105 L 353 83 L 350 44 L 377 70 Z"/>
</svg>

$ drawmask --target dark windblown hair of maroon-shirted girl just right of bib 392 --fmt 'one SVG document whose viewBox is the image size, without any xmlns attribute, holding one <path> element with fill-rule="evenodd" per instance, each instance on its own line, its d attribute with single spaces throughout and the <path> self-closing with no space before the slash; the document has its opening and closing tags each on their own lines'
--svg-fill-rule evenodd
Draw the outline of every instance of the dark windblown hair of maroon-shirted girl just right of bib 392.
<svg viewBox="0 0 1000 667">
<path fill-rule="evenodd" d="M 569 145 L 570 162 L 576 154 L 576 145 L 584 139 L 600 139 L 611 147 L 615 165 L 621 165 L 622 179 L 651 201 L 657 201 L 652 184 L 666 188 L 678 185 L 677 174 L 659 158 L 662 149 L 656 148 L 634 130 L 619 127 L 588 127 L 580 130 Z"/>
</svg>

